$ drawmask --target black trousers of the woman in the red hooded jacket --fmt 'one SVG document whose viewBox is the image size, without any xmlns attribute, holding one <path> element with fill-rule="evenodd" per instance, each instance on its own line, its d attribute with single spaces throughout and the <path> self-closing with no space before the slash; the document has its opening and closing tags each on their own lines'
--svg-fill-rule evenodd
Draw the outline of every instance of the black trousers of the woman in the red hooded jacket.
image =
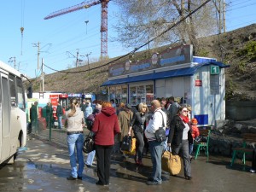
<svg viewBox="0 0 256 192">
<path fill-rule="evenodd" d="M 110 159 L 113 145 L 96 145 L 97 176 L 102 184 L 109 184 Z"/>
</svg>

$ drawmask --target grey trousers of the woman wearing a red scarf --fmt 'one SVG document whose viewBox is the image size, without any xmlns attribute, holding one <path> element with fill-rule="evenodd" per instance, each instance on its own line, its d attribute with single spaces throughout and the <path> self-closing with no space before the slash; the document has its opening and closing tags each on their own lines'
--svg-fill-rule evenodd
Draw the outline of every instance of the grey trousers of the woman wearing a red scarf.
<svg viewBox="0 0 256 192">
<path fill-rule="evenodd" d="M 191 162 L 189 157 L 189 140 L 183 140 L 177 148 L 172 148 L 174 154 L 179 154 L 179 151 L 182 150 L 183 154 L 183 167 L 184 175 L 191 177 Z"/>
</svg>

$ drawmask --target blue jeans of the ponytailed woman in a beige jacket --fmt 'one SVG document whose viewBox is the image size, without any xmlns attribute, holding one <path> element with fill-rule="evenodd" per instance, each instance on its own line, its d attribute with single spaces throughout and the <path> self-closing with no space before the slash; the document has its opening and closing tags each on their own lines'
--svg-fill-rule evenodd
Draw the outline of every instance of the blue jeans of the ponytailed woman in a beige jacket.
<svg viewBox="0 0 256 192">
<path fill-rule="evenodd" d="M 83 143 L 84 143 L 83 133 L 67 135 L 67 146 L 68 146 L 68 154 L 70 158 L 72 177 L 78 177 L 78 176 L 82 177 L 82 174 L 83 174 L 83 170 L 84 170 L 84 155 L 82 150 Z M 77 150 L 75 150 L 75 148 Z M 79 170 L 77 169 L 76 158 L 79 163 Z"/>
</svg>

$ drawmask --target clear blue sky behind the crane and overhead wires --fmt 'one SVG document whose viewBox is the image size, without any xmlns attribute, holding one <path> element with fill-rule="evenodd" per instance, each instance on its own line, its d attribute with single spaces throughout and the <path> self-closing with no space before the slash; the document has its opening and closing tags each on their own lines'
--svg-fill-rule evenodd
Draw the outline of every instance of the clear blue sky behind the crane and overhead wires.
<svg viewBox="0 0 256 192">
<path fill-rule="evenodd" d="M 90 0 L 91 1 L 91 0 Z M 90 2 L 86 1 L 86 2 Z M 79 59 L 96 61 L 101 55 L 101 4 L 61 15 L 49 20 L 44 17 L 60 9 L 82 3 L 82 0 L 3 0 L 0 3 L 0 61 L 15 67 L 20 73 L 35 78 L 44 64 L 55 70 L 73 66 L 77 52 Z M 226 0 L 226 31 L 256 23 L 255 0 Z M 108 56 L 125 55 L 125 49 L 113 41 L 117 36 L 117 6 L 108 3 Z M 85 21 L 87 21 L 87 24 Z M 23 38 L 20 27 L 24 27 Z M 39 61 L 38 61 L 39 43 Z M 68 54 L 67 54 L 68 53 Z M 85 56 L 88 55 L 88 58 Z M 39 62 L 39 70 L 38 70 Z M 55 71 L 44 67 L 44 73 Z"/>
</svg>

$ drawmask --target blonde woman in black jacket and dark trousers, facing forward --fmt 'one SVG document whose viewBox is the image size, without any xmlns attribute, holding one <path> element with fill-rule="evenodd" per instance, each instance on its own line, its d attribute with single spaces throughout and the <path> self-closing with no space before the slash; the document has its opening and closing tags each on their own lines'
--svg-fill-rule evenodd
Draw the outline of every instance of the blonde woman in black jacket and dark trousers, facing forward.
<svg viewBox="0 0 256 192">
<path fill-rule="evenodd" d="M 131 119 L 131 125 L 128 131 L 128 135 L 131 136 L 131 129 L 137 140 L 137 148 L 135 155 L 135 162 L 137 165 L 143 166 L 143 148 L 144 148 L 144 130 L 146 128 L 148 119 L 148 106 L 146 103 L 141 102 L 138 105 L 137 112 Z"/>
</svg>

